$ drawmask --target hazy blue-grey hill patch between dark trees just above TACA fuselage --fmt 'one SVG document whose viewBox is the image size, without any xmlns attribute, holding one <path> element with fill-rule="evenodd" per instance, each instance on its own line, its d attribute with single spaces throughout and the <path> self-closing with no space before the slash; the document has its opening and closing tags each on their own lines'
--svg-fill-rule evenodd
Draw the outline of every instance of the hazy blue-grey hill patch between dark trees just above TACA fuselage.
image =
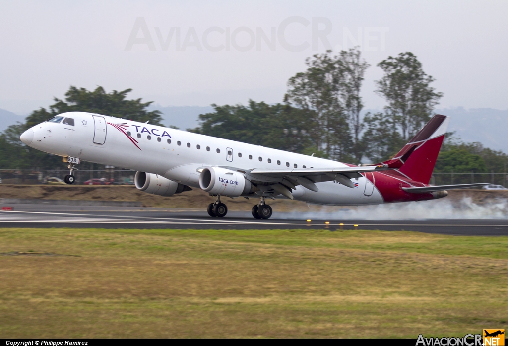
<svg viewBox="0 0 508 346">
<path fill-rule="evenodd" d="M 199 115 L 210 113 L 213 107 L 181 106 L 181 107 L 160 107 L 151 106 L 150 110 L 159 110 L 163 113 L 163 123 L 173 125 L 180 130 L 194 129 L 199 126 Z"/>
</svg>

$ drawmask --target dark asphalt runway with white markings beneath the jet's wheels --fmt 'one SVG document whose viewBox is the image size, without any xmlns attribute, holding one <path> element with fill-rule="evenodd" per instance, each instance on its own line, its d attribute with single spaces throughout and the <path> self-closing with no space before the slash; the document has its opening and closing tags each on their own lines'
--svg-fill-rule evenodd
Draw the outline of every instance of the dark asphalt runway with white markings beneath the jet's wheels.
<svg viewBox="0 0 508 346">
<path fill-rule="evenodd" d="M 0 211 L 0 227 L 22 228 L 136 228 L 136 229 L 325 229 L 417 231 L 451 235 L 508 236 L 506 219 L 346 220 L 314 214 L 306 221 L 294 213 L 276 212 L 269 220 L 252 218 L 250 212 L 229 211 L 224 218 L 211 218 L 197 209 L 94 207 L 16 204 L 13 211 Z M 329 222 L 329 224 L 325 224 Z M 340 226 L 343 224 L 343 226 Z"/>
</svg>

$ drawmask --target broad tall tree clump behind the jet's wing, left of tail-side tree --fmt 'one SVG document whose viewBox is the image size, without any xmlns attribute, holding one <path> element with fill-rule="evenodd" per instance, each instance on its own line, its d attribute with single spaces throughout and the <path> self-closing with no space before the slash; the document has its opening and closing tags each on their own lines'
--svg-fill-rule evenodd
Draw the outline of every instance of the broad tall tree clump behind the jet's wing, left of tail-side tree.
<svg viewBox="0 0 508 346">
<path fill-rule="evenodd" d="M 316 150 L 324 151 L 331 159 L 360 163 L 363 155 L 360 88 L 369 65 L 358 48 L 335 56 L 331 51 L 314 54 L 305 64 L 308 66 L 305 72 L 289 79 L 284 102 L 314 111 L 315 128 L 309 133 Z"/>
</svg>

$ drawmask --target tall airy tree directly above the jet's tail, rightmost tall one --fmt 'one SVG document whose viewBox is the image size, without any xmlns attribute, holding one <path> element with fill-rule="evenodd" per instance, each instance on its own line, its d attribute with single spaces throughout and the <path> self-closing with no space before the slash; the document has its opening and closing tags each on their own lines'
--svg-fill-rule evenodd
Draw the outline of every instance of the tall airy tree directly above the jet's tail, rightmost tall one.
<svg viewBox="0 0 508 346">
<path fill-rule="evenodd" d="M 376 81 L 376 93 L 388 102 L 385 112 L 392 118 L 393 131 L 398 128 L 402 139 L 408 140 L 429 120 L 443 94 L 430 87 L 434 78 L 423 71 L 411 52 L 389 56 L 377 66 L 385 75 Z"/>
</svg>

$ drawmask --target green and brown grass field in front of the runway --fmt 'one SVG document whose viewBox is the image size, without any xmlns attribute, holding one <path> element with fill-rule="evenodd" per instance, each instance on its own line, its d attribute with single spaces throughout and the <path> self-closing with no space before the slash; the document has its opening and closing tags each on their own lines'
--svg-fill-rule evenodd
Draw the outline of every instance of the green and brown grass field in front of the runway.
<svg viewBox="0 0 508 346">
<path fill-rule="evenodd" d="M 508 237 L 0 229 L 0 337 L 463 336 L 508 321 Z M 357 330 L 366 331 L 358 335 Z"/>
</svg>

